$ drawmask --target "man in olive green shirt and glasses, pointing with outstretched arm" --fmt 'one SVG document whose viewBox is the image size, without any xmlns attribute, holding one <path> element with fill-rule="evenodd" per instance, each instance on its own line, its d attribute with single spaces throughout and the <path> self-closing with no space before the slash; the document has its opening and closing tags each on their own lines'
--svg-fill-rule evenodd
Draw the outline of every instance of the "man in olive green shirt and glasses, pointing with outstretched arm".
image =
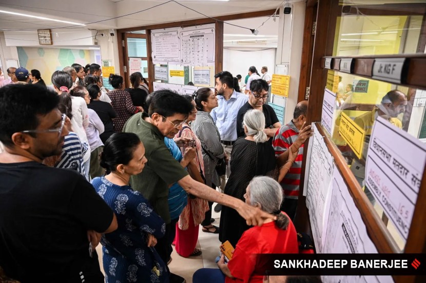
<svg viewBox="0 0 426 283">
<path fill-rule="evenodd" d="M 169 186 L 178 184 L 189 194 L 214 201 L 234 208 L 247 220 L 248 225 L 262 225 L 267 218 L 274 216 L 259 208 L 245 204 L 242 200 L 219 193 L 210 187 L 192 179 L 187 171 L 173 158 L 164 144 L 164 137 L 173 138 L 182 129 L 192 105 L 183 96 L 170 90 L 160 90 L 153 94 L 149 106 L 149 117 L 146 113 L 133 115 L 124 126 L 124 132 L 135 133 L 145 147 L 148 163 L 144 170 L 130 178 L 130 184 L 147 198 L 154 210 L 166 223 L 166 235 L 159 239 L 156 250 L 167 262 L 171 254 L 172 239 L 167 239 L 175 226 L 170 225 L 167 196 Z M 148 118 L 148 119 L 144 119 Z M 185 146 L 189 140 L 179 138 L 178 146 Z"/>
</svg>

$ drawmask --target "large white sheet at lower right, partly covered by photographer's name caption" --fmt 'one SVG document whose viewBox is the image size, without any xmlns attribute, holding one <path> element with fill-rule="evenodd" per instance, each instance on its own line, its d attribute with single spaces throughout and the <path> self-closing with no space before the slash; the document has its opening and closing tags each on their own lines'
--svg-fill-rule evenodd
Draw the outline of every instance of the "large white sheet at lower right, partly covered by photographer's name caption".
<svg viewBox="0 0 426 283">
<path fill-rule="evenodd" d="M 323 253 L 377 253 L 344 180 L 334 168 Z M 393 282 L 391 276 L 322 276 L 323 282 Z"/>
</svg>

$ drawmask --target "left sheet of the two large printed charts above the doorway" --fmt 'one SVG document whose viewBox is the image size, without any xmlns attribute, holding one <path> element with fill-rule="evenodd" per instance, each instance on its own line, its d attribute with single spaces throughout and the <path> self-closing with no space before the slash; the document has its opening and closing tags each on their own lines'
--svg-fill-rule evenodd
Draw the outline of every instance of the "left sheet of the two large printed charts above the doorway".
<svg viewBox="0 0 426 283">
<path fill-rule="evenodd" d="M 152 62 L 154 64 L 179 62 L 180 41 L 177 29 L 163 32 L 152 32 Z"/>
</svg>

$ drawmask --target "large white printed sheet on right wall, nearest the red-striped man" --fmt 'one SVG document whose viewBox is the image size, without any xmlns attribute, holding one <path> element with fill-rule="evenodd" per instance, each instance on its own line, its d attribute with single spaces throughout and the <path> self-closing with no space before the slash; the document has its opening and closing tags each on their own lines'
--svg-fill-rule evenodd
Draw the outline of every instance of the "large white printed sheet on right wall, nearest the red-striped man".
<svg viewBox="0 0 426 283">
<path fill-rule="evenodd" d="M 313 125 L 314 127 L 314 125 Z M 323 251 L 327 229 L 328 210 L 330 210 L 330 183 L 334 168 L 333 156 L 324 143 L 319 131 L 314 131 L 307 181 L 306 204 L 311 219 L 312 234 L 318 252 Z"/>
</svg>

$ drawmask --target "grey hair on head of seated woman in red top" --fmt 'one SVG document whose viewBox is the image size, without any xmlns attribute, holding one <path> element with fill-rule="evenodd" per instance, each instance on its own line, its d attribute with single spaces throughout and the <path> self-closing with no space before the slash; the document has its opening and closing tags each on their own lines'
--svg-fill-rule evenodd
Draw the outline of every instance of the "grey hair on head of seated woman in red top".
<svg viewBox="0 0 426 283">
<path fill-rule="evenodd" d="M 283 192 L 276 180 L 267 176 L 257 176 L 248 186 L 250 186 L 250 205 L 259 204 L 267 213 L 274 213 L 280 209 Z"/>
</svg>

